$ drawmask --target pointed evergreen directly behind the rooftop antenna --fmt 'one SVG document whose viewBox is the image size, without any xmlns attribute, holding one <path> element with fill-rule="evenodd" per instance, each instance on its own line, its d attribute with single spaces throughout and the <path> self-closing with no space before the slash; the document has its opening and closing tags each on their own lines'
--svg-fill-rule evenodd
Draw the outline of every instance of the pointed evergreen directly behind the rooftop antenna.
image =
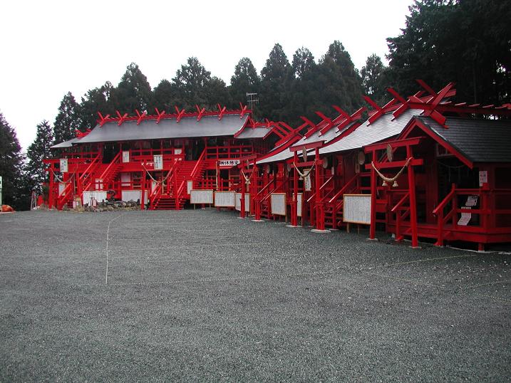
<svg viewBox="0 0 511 383">
<path fill-rule="evenodd" d="M 257 75 L 257 70 L 249 58 L 244 57 L 234 67 L 234 75 L 231 77 L 229 87 L 233 107 L 238 107 L 239 103 L 247 104 L 247 93 L 259 93 L 261 79 Z"/>
</svg>

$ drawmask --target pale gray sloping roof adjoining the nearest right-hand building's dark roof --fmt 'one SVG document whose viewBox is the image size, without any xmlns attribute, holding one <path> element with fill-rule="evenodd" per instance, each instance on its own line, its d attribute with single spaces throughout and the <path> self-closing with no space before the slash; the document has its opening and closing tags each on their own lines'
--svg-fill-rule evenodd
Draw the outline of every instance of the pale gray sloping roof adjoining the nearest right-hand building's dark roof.
<svg viewBox="0 0 511 383">
<path fill-rule="evenodd" d="M 346 137 L 341 138 L 341 140 L 334 142 L 332 145 L 319 149 L 319 153 L 327 154 L 358 149 L 393 137 L 401 133 L 414 115 L 419 115 L 422 112 L 422 110 L 408 109 L 395 120 L 393 120 L 392 112 L 388 112 L 372 124 L 369 124 L 368 121 L 364 122 Z"/>
</svg>

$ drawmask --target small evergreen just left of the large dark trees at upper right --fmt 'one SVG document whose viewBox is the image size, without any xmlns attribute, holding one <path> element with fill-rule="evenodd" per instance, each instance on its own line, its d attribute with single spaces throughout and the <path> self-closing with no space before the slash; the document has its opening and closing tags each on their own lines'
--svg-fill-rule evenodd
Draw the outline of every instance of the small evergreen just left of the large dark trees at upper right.
<svg viewBox="0 0 511 383">
<path fill-rule="evenodd" d="M 384 100 L 388 98 L 386 88 L 391 86 L 391 84 L 388 83 L 387 68 L 383 65 L 380 56 L 376 54 L 369 56 L 360 74 L 362 76 L 363 90 L 376 103 L 383 105 Z"/>
</svg>

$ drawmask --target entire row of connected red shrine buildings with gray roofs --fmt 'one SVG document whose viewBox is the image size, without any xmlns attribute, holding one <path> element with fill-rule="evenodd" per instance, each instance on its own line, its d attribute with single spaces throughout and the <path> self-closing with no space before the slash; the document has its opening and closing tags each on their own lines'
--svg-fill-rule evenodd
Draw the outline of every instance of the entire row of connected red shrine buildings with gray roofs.
<svg viewBox="0 0 511 383">
<path fill-rule="evenodd" d="M 437 246 L 511 242 L 511 105 L 453 103 L 453 83 L 319 122 L 257 123 L 250 111 L 102 117 L 55 145 L 51 206 L 133 199 L 214 204 L 313 231 L 368 226 Z M 317 118 L 316 118 L 317 120 Z M 58 176 L 58 174 L 61 174 Z M 58 179 L 61 177 L 61 179 Z"/>
</svg>

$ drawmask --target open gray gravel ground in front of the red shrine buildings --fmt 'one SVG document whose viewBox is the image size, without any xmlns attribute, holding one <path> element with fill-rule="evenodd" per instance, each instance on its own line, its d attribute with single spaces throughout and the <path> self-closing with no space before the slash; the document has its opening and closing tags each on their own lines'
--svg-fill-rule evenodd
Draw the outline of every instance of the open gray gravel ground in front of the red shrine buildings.
<svg viewBox="0 0 511 383">
<path fill-rule="evenodd" d="M 0 382 L 498 382 L 511 255 L 229 211 L 0 215 Z"/>
</svg>

